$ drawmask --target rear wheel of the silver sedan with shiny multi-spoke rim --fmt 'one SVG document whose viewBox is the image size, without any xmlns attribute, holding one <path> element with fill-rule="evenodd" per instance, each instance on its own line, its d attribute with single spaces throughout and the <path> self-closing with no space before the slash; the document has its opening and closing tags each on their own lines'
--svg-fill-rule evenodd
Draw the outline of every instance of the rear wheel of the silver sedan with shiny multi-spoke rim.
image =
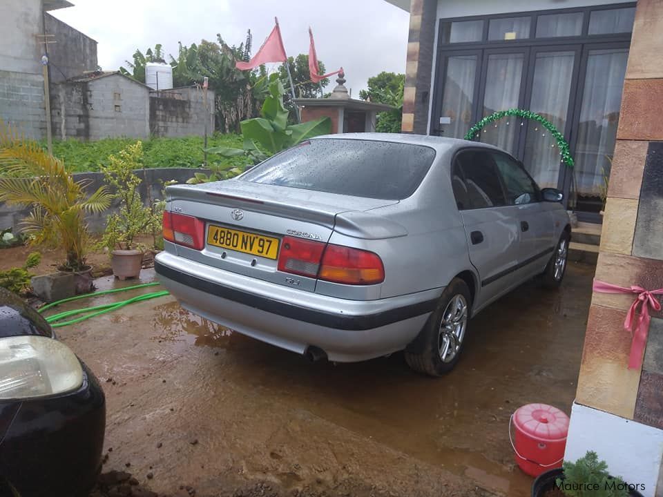
<svg viewBox="0 0 663 497">
<path fill-rule="evenodd" d="M 443 376 L 456 366 L 468 333 L 472 295 L 468 284 L 454 278 L 417 338 L 405 349 L 410 368 Z"/>
</svg>

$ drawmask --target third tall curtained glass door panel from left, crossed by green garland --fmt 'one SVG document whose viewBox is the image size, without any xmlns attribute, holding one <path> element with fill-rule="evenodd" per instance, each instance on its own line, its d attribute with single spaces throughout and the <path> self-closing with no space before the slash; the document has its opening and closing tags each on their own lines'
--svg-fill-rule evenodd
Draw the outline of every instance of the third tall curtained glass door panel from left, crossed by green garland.
<svg viewBox="0 0 663 497">
<path fill-rule="evenodd" d="M 538 51 L 533 54 L 533 74 L 529 81 L 528 110 L 553 123 L 559 133 L 566 134 L 569 99 L 579 48 Z M 526 141 L 523 164 L 541 186 L 557 188 L 560 156 L 557 142 L 550 132 L 536 121 L 525 121 Z M 568 137 L 568 134 L 566 135 Z"/>
</svg>

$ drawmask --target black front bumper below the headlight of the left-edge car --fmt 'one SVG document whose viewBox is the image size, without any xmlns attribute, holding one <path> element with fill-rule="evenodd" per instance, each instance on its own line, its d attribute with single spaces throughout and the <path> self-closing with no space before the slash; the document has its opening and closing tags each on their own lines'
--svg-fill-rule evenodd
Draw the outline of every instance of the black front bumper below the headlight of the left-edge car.
<svg viewBox="0 0 663 497">
<path fill-rule="evenodd" d="M 21 496 L 86 496 L 101 468 L 106 400 L 90 370 L 73 392 L 51 398 L 0 402 L 12 413 L 0 433 L 0 478 Z M 1 486 L 1 485 L 0 485 Z"/>
</svg>

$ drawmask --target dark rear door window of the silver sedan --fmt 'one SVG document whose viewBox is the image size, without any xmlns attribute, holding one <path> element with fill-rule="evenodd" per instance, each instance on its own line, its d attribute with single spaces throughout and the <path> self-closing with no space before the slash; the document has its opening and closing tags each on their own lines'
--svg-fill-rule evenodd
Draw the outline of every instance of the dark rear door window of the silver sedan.
<svg viewBox="0 0 663 497">
<path fill-rule="evenodd" d="M 465 150 L 457 155 L 452 189 L 461 211 L 507 204 L 497 165 L 489 153 L 481 150 Z"/>
</svg>

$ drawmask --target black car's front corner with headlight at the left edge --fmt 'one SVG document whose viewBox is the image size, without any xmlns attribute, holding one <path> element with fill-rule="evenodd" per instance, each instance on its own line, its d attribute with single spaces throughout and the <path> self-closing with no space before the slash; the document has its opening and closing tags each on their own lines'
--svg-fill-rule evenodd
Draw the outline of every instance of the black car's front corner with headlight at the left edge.
<svg viewBox="0 0 663 497">
<path fill-rule="evenodd" d="M 87 496 L 105 426 L 94 374 L 35 309 L 0 288 L 0 496 Z"/>
</svg>

